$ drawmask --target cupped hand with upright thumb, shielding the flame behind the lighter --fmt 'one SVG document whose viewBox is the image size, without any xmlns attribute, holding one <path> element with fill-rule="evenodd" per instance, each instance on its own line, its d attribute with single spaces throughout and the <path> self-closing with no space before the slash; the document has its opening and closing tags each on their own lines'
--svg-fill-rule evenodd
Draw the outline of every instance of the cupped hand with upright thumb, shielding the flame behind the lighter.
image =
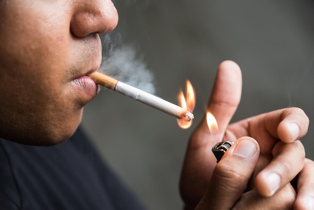
<svg viewBox="0 0 314 210">
<path fill-rule="evenodd" d="M 304 112 L 283 109 L 229 125 L 240 101 L 241 88 L 239 67 L 232 61 L 223 62 L 208 105 L 219 131 L 210 133 L 204 118 L 188 145 L 180 183 L 187 206 L 194 208 L 203 197 L 216 166 L 211 148 L 220 141 L 236 141 L 242 136 L 257 140 L 260 155 L 252 186 L 263 196 L 271 196 L 285 187 L 303 168 L 304 148 L 297 139 L 307 132 L 308 118 Z"/>
</svg>

